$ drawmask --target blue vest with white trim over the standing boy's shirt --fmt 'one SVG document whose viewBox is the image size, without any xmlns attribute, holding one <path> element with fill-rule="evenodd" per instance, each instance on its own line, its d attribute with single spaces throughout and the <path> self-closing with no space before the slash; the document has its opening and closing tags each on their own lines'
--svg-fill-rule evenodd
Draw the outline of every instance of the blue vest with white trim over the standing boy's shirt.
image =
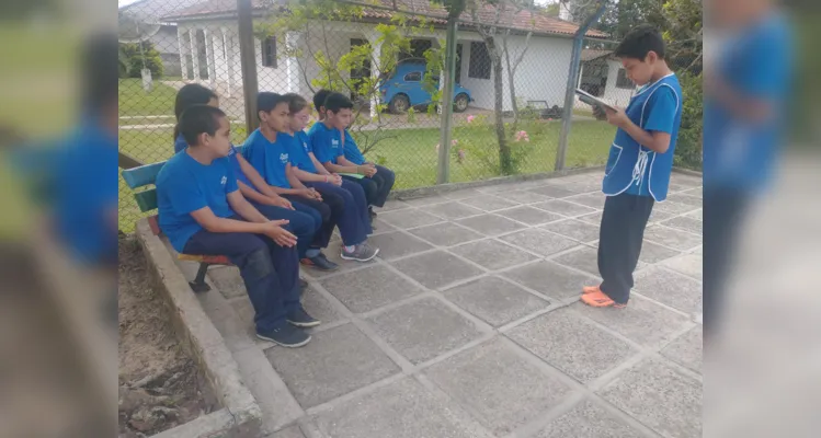
<svg viewBox="0 0 821 438">
<path fill-rule="evenodd" d="M 651 111 L 651 105 L 648 105 L 648 103 L 653 93 L 664 87 L 673 90 L 677 102 L 675 120 L 672 124 L 673 132 L 670 132 L 670 148 L 665 153 L 657 153 L 639 145 L 623 129 L 618 129 L 604 170 L 602 192 L 605 195 L 616 196 L 628 191 L 638 194 L 649 192 L 649 195 L 657 201 L 666 199 L 670 173 L 673 170 L 675 141 L 679 137 L 679 126 L 682 118 L 682 91 L 679 79 L 671 73 L 639 90 L 630 99 L 630 104 L 627 105 L 625 112 L 632 123 L 643 129 Z M 637 187 L 638 189 L 636 189 Z"/>
</svg>

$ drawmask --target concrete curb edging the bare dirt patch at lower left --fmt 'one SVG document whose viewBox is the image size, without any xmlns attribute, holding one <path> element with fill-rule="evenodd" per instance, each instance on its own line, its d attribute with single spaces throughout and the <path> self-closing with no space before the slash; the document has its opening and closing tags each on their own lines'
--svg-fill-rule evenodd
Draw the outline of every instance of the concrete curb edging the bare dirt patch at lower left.
<svg viewBox="0 0 821 438">
<path fill-rule="evenodd" d="M 191 291 L 185 277 L 148 221 L 137 222 L 137 239 L 148 262 L 151 281 L 171 309 L 183 347 L 214 389 L 223 410 L 156 435 L 159 438 L 251 438 L 260 436 L 262 411 L 242 381 L 239 366 Z"/>
</svg>

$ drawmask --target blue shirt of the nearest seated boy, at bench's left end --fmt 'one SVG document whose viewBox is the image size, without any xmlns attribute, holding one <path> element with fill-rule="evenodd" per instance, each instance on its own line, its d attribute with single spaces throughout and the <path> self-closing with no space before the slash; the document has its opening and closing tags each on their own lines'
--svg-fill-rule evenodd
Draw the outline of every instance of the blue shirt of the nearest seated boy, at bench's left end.
<svg viewBox="0 0 821 438">
<path fill-rule="evenodd" d="M 182 151 L 166 162 L 157 175 L 160 229 L 182 253 L 192 235 L 203 228 L 191 216 L 203 207 L 219 218 L 235 216 L 228 194 L 238 189 L 237 177 L 225 159 L 204 165 Z"/>
</svg>

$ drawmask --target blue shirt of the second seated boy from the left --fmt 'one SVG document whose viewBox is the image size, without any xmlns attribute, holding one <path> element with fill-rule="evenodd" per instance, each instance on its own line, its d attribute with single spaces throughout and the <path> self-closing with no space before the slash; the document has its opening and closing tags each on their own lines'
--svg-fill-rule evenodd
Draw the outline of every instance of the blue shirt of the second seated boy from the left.
<svg viewBox="0 0 821 438">
<path fill-rule="evenodd" d="M 277 132 L 276 141 L 269 141 L 259 129 L 251 132 L 242 147 L 242 155 L 251 165 L 260 172 L 265 182 L 275 187 L 290 188 L 286 168 L 290 154 L 288 153 L 288 140 L 282 132 Z"/>
</svg>

